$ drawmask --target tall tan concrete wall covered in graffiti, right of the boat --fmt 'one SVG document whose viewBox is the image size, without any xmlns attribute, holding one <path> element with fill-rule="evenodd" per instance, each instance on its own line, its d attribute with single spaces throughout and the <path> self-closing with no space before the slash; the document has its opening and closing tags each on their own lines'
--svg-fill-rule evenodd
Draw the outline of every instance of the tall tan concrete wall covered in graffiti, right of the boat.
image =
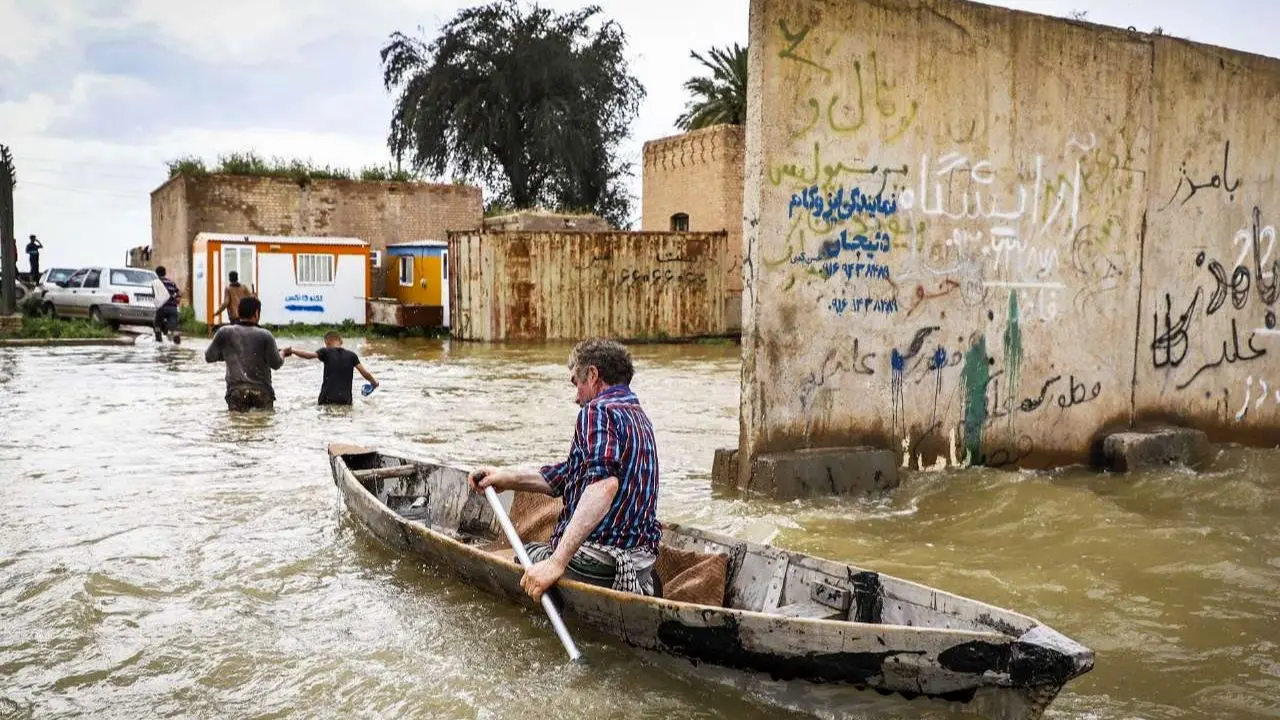
<svg viewBox="0 0 1280 720">
<path fill-rule="evenodd" d="M 750 53 L 741 455 L 1044 466 L 1148 419 L 1280 437 L 1280 398 L 1235 418 L 1274 279 L 1208 313 L 1215 274 L 1275 260 L 1280 61 L 954 0 L 753 0 Z M 1230 192 L 1203 186 L 1228 141 Z"/>
</svg>

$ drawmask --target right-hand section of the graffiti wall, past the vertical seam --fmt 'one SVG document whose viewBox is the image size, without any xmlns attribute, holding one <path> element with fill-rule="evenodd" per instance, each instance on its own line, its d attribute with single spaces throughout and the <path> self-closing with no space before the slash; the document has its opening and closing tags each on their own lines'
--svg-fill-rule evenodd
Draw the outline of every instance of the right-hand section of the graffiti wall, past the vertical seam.
<svg viewBox="0 0 1280 720">
<path fill-rule="evenodd" d="M 1134 411 L 1274 446 L 1280 60 L 1162 40 L 1155 73 Z"/>
</svg>

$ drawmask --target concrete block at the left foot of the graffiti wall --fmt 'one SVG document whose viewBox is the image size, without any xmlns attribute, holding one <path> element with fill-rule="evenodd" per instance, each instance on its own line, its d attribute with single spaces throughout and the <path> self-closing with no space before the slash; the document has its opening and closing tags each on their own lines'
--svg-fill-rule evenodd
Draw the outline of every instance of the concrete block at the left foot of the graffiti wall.
<svg viewBox="0 0 1280 720">
<path fill-rule="evenodd" d="M 899 484 L 899 457 L 874 447 L 835 447 L 760 455 L 745 489 L 774 500 L 873 495 Z"/>
</svg>

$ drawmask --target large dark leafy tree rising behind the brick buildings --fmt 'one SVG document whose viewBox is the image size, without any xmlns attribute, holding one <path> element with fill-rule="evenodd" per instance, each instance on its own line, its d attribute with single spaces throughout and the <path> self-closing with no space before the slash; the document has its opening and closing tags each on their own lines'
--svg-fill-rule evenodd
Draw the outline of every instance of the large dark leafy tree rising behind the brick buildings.
<svg viewBox="0 0 1280 720">
<path fill-rule="evenodd" d="M 503 205 L 588 210 L 625 227 L 631 164 L 618 145 L 644 88 L 622 28 L 600 13 L 497 0 L 460 10 L 429 44 L 393 33 L 381 50 L 383 85 L 397 95 L 392 155 L 479 178 Z"/>
</svg>

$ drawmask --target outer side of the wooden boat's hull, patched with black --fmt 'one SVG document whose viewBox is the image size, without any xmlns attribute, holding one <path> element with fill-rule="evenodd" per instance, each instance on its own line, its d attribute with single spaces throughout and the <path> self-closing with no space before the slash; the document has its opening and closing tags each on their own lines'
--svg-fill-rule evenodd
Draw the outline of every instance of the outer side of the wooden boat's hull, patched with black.
<svg viewBox="0 0 1280 720">
<path fill-rule="evenodd" d="M 535 607 L 520 587 L 522 570 L 509 556 L 406 519 L 371 493 L 342 455 L 330 461 L 347 509 L 374 537 L 489 593 Z M 453 480 L 465 483 L 462 470 L 431 468 L 457 473 L 461 478 Z M 865 715 L 873 706 L 905 698 L 992 720 L 1029 720 L 1043 714 L 1065 683 L 1060 676 L 1027 675 L 1025 669 L 1027 676 L 1014 678 L 1019 670 L 1010 657 L 1019 646 L 996 633 L 780 618 L 567 580 L 557 584 L 556 593 L 571 626 L 586 624 L 668 669 L 818 716 Z"/>
</svg>

